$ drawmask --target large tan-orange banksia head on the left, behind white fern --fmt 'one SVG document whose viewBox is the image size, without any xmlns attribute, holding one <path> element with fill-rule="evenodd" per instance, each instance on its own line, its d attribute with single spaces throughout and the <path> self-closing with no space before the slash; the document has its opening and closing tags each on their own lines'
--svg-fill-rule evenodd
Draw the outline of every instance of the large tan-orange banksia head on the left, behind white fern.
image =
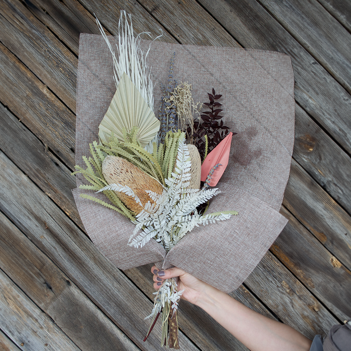
<svg viewBox="0 0 351 351">
<path fill-rule="evenodd" d="M 146 190 L 157 194 L 163 192 L 162 185 L 158 181 L 121 157 L 107 156 L 102 162 L 102 174 L 109 185 L 120 184 L 131 188 L 143 206 L 148 201 L 153 203 Z M 130 211 L 136 215 L 141 212 L 142 207 L 133 197 L 121 192 L 115 193 Z"/>
</svg>

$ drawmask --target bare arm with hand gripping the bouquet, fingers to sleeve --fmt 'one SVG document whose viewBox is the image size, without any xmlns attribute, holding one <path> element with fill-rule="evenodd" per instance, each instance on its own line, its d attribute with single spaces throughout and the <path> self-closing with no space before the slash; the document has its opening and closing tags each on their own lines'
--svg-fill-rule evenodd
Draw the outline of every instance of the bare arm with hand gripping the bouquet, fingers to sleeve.
<svg viewBox="0 0 351 351">
<path fill-rule="evenodd" d="M 307 351 L 310 349 L 311 340 L 299 331 L 253 311 L 225 292 L 204 283 L 182 269 L 173 267 L 159 271 L 156 266 L 153 266 L 151 272 L 153 287 L 156 290 L 160 288 L 164 279 L 179 277 L 178 290 L 184 290 L 182 298 L 204 309 L 250 350 Z"/>
</svg>

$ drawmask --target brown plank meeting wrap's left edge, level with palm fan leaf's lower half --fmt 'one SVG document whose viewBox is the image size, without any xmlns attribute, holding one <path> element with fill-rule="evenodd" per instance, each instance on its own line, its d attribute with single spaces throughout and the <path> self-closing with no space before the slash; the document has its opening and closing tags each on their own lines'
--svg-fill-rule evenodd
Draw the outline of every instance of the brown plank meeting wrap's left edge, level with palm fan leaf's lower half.
<svg viewBox="0 0 351 351">
<path fill-rule="evenodd" d="M 0 44 L 1 96 L 42 143 L 74 167 L 75 116 L 16 56 Z"/>
</svg>

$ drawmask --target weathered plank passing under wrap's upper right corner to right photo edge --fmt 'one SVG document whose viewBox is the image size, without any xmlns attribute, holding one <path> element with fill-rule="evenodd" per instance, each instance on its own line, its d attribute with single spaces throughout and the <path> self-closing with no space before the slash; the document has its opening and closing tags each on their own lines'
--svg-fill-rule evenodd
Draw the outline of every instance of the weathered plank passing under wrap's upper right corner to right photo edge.
<svg viewBox="0 0 351 351">
<path fill-rule="evenodd" d="M 294 69 L 297 103 L 351 152 L 351 98 L 323 66 L 255 0 L 200 3 L 244 47 L 288 54 Z"/>
</svg>

